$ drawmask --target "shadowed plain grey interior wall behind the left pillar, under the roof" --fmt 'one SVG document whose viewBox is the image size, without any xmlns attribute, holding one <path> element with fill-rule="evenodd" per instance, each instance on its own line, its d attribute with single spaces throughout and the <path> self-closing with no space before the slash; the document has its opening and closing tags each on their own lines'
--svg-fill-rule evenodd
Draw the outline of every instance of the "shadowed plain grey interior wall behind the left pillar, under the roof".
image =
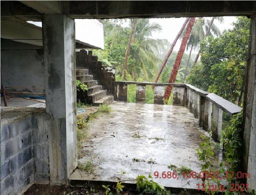
<svg viewBox="0 0 256 195">
<path fill-rule="evenodd" d="M 1 84 L 11 87 L 6 91 L 43 93 L 42 49 L 1 49 Z"/>
</svg>

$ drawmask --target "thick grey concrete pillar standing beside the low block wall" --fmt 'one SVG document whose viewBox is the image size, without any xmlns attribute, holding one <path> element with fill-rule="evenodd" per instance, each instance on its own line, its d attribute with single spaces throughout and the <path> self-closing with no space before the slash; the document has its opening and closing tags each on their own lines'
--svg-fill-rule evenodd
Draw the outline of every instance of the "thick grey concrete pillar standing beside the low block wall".
<svg viewBox="0 0 256 195">
<path fill-rule="evenodd" d="M 77 165 L 74 19 L 43 15 L 42 36 L 50 183 L 67 184 Z"/>
</svg>

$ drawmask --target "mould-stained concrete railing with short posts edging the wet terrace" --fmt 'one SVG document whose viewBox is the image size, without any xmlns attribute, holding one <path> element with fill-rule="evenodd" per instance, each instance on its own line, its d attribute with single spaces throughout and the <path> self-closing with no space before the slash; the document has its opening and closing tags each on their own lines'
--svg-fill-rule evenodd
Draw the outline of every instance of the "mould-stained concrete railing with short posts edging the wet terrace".
<svg viewBox="0 0 256 195">
<path fill-rule="evenodd" d="M 127 101 L 127 85 L 136 84 L 136 103 L 145 102 L 145 86 L 154 85 L 154 104 L 164 104 L 165 86 L 172 85 L 173 105 L 185 106 L 199 119 L 199 125 L 212 132 L 215 141 L 220 140 L 223 111 L 231 116 L 241 111 L 241 107 L 214 94 L 190 84 L 115 81 L 114 100 Z"/>
</svg>

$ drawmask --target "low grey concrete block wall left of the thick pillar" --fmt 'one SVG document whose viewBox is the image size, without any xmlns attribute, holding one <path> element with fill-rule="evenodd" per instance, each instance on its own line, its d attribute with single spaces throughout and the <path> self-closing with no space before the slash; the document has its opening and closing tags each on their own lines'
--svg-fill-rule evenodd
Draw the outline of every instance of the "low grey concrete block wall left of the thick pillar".
<svg viewBox="0 0 256 195">
<path fill-rule="evenodd" d="M 19 194 L 35 182 L 49 182 L 45 117 L 45 112 L 31 112 L 1 121 L 0 194 Z"/>
</svg>

